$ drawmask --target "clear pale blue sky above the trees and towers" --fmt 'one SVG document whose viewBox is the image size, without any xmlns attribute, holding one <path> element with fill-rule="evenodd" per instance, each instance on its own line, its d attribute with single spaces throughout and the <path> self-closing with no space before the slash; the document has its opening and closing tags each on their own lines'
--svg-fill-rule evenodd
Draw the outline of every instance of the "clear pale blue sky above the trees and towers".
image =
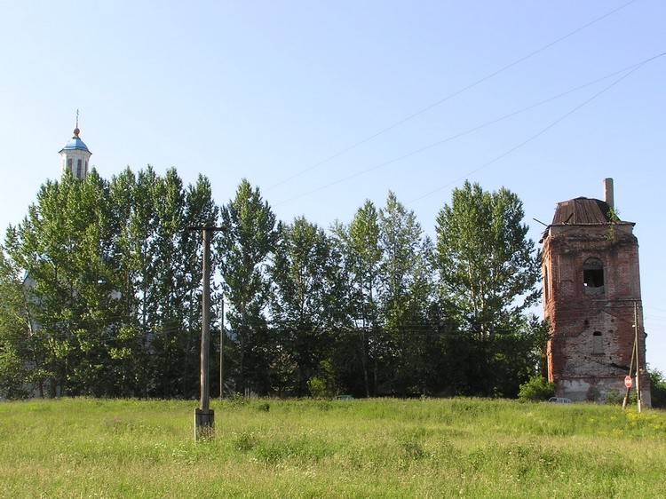
<svg viewBox="0 0 666 499">
<path fill-rule="evenodd" d="M 77 110 L 104 178 L 174 167 L 218 204 L 247 178 L 324 228 L 392 191 L 433 235 L 469 180 L 517 194 L 539 247 L 558 202 L 614 178 L 666 373 L 663 0 L 1 4 L 3 232 L 59 178 Z"/>
</svg>

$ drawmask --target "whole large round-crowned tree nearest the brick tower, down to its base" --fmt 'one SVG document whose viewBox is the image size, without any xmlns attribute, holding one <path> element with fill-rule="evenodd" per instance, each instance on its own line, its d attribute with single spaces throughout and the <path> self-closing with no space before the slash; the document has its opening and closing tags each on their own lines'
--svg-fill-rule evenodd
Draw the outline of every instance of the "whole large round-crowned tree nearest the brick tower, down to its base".
<svg viewBox="0 0 666 499">
<path fill-rule="evenodd" d="M 454 190 L 452 204 L 437 218 L 440 300 L 459 325 L 449 345 L 456 361 L 466 364 L 467 394 L 495 394 L 497 363 L 511 358 L 497 350 L 496 337 L 503 335 L 506 343 L 507 335 L 524 331 L 522 313 L 539 297 L 539 257 L 523 218 L 516 194 L 505 188 L 484 192 L 469 182 Z"/>
</svg>

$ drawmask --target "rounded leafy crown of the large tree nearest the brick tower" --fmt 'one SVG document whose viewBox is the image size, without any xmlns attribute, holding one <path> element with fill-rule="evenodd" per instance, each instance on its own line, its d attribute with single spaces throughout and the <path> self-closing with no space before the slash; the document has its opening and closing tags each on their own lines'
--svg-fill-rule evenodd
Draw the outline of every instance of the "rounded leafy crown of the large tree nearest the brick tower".
<svg viewBox="0 0 666 499">
<path fill-rule="evenodd" d="M 539 259 L 523 218 L 516 194 L 484 192 L 469 182 L 440 210 L 435 261 L 441 292 L 474 335 L 492 337 L 539 296 Z"/>
</svg>

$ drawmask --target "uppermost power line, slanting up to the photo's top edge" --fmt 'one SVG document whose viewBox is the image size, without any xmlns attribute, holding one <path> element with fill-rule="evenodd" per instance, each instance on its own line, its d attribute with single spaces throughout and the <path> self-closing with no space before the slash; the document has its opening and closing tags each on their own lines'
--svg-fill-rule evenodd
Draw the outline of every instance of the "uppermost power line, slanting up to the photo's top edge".
<svg viewBox="0 0 666 499">
<path fill-rule="evenodd" d="M 531 57 L 534 57 L 536 54 L 538 54 L 542 51 L 545 51 L 546 49 L 550 48 L 551 46 L 553 46 L 555 44 L 559 44 L 559 42 L 562 42 L 563 40 L 566 40 L 570 36 L 574 36 L 576 33 L 579 33 L 580 31 L 583 31 L 583 29 L 585 29 L 585 28 L 591 27 L 593 24 L 598 23 L 600 20 L 606 19 L 608 16 L 613 15 L 615 12 L 621 11 L 623 8 L 629 6 L 630 4 L 634 4 L 636 1 L 637 0 L 631 0 L 630 2 L 627 2 L 626 4 L 620 5 L 619 7 L 614 9 L 613 11 L 607 12 L 606 14 L 602 15 L 601 17 L 599 17 L 595 20 L 592 20 L 591 22 L 588 22 L 587 24 L 584 24 L 580 28 L 576 28 L 574 31 L 571 31 L 570 33 L 568 33 L 565 36 L 560 36 L 558 39 L 552 41 L 551 43 L 543 45 L 543 47 L 528 53 L 526 56 L 523 56 L 520 59 L 517 59 L 517 60 L 511 62 L 511 64 L 508 64 L 507 66 L 504 66 L 504 67 L 501 67 L 500 69 L 497 69 L 496 71 L 494 71 L 493 73 L 490 73 L 489 75 L 483 76 L 479 80 L 476 80 L 475 82 L 468 84 L 467 86 L 463 87 L 460 90 L 454 91 L 453 93 L 449 94 L 448 96 L 444 97 L 443 99 L 440 99 L 440 100 L 432 103 L 429 106 L 423 107 L 422 109 L 416 111 L 416 113 L 408 115 L 406 118 L 403 118 L 400 121 L 398 121 L 396 123 L 393 123 L 392 125 L 389 125 L 389 126 L 385 127 L 384 129 L 382 129 L 380 131 L 377 131 L 377 133 L 374 133 L 374 134 L 370 135 L 366 139 L 362 139 L 359 142 L 354 143 L 352 146 L 346 147 L 342 151 L 327 157 L 326 159 L 322 160 L 321 162 L 317 162 L 317 163 L 313 164 L 312 166 L 306 168 L 305 170 L 301 170 L 298 173 L 296 173 L 295 175 L 292 175 L 289 178 L 285 178 L 281 182 L 278 182 L 277 184 L 274 184 L 274 186 L 268 187 L 266 189 L 266 191 L 274 189 L 275 187 L 278 187 L 278 186 L 282 186 L 283 184 L 286 184 L 290 180 L 293 180 L 294 178 L 300 177 L 304 173 L 307 173 L 310 170 L 314 170 L 315 168 L 321 166 L 322 164 L 327 163 L 331 160 L 334 160 L 335 158 L 341 156 L 342 154 L 348 153 L 349 151 L 355 149 L 356 147 L 362 146 L 366 142 L 369 142 L 370 140 L 375 139 L 375 138 L 379 137 L 380 135 L 383 135 L 385 132 L 391 131 L 392 129 L 400 126 L 402 123 L 407 123 L 408 121 L 416 118 L 416 116 L 423 115 L 425 112 L 430 111 L 433 107 L 437 107 L 440 104 L 443 104 L 444 102 L 446 102 L 450 99 L 453 99 L 454 97 L 457 97 L 458 95 L 464 93 L 465 91 L 468 91 L 468 90 L 474 88 L 475 86 L 479 85 L 480 83 L 486 82 L 487 80 L 489 80 L 490 78 L 492 78 L 496 75 L 500 75 L 501 73 L 510 69 L 511 67 L 514 67 L 514 66 L 518 65 L 519 63 L 521 63 L 521 62 L 523 62 L 527 59 L 530 59 Z M 400 159 L 402 159 L 402 158 L 400 158 Z M 294 199 L 296 199 L 296 198 L 294 198 Z M 292 201 L 292 200 L 289 200 L 289 201 Z"/>
</svg>

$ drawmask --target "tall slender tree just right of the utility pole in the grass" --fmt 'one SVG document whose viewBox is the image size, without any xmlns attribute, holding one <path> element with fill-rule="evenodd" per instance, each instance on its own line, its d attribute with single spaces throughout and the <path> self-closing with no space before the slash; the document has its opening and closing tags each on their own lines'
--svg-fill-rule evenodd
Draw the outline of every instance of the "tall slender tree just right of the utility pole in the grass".
<svg viewBox="0 0 666 499">
<path fill-rule="evenodd" d="M 226 316 L 238 343 L 236 390 L 242 393 L 250 388 L 266 393 L 266 265 L 275 250 L 277 228 L 268 202 L 246 179 L 238 186 L 234 200 L 222 208 L 222 231 L 218 256 L 229 305 Z"/>
</svg>

